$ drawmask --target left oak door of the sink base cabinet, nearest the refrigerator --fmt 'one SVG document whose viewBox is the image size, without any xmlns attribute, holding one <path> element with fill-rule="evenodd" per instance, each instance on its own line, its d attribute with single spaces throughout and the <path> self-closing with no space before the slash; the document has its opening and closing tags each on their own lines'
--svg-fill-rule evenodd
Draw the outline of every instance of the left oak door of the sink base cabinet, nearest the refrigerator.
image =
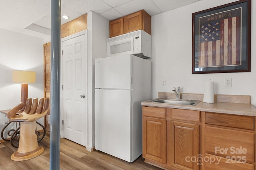
<svg viewBox="0 0 256 170">
<path fill-rule="evenodd" d="M 166 119 L 143 116 L 144 158 L 166 164 Z"/>
</svg>

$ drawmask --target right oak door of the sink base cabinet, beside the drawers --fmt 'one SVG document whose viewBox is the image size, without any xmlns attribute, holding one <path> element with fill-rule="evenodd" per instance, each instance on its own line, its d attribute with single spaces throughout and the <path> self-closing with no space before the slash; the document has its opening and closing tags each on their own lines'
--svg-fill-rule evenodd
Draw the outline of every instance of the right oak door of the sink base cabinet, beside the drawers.
<svg viewBox="0 0 256 170">
<path fill-rule="evenodd" d="M 171 121 L 171 124 L 171 166 L 181 170 L 199 170 L 200 162 L 193 158 L 200 154 L 200 125 L 177 121 Z"/>
</svg>

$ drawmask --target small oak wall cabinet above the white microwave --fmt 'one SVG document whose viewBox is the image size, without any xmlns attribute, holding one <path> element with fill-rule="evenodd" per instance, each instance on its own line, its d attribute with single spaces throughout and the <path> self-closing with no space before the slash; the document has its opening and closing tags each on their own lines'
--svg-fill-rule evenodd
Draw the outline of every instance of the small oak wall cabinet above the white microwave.
<svg viewBox="0 0 256 170">
<path fill-rule="evenodd" d="M 151 35 L 151 16 L 144 10 L 110 21 L 109 37 L 115 37 L 140 29 Z"/>
</svg>

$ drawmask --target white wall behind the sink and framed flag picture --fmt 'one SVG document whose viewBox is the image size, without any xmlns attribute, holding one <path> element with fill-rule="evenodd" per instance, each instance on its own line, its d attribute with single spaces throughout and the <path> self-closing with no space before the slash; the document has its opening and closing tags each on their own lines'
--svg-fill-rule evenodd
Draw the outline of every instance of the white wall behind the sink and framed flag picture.
<svg viewBox="0 0 256 170">
<path fill-rule="evenodd" d="M 236 0 L 200 0 L 169 12 L 152 16 L 152 98 L 158 92 L 204 93 L 204 84 L 214 81 L 215 94 L 250 95 L 256 106 L 256 2 L 252 0 L 251 72 L 192 74 L 192 13 Z M 224 78 L 232 87 L 224 87 Z M 166 80 L 166 86 L 161 85 Z"/>
</svg>

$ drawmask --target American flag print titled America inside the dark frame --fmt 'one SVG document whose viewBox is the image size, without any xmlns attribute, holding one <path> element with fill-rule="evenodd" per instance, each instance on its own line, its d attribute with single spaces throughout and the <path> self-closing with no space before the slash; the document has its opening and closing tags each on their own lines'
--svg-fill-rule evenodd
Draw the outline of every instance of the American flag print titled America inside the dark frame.
<svg viewBox="0 0 256 170">
<path fill-rule="evenodd" d="M 199 67 L 241 65 L 241 9 L 199 18 Z"/>
</svg>

